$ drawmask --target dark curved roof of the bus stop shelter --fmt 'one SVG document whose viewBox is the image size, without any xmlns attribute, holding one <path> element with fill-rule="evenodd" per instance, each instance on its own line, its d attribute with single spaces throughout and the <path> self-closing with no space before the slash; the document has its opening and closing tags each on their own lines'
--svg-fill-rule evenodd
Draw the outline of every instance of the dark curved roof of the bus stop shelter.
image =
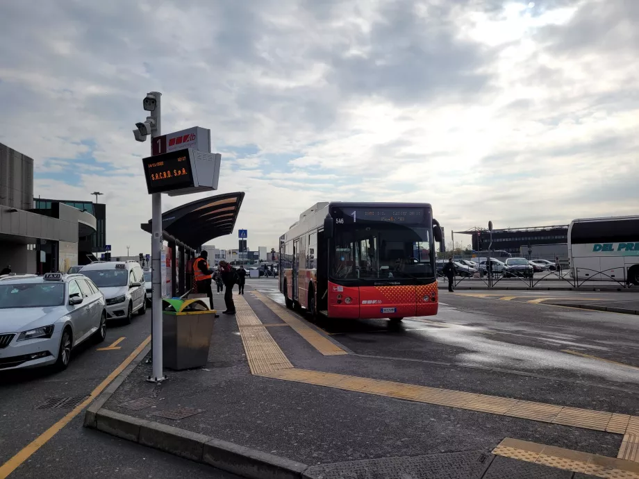
<svg viewBox="0 0 639 479">
<path fill-rule="evenodd" d="M 162 214 L 166 240 L 179 240 L 192 249 L 219 236 L 233 233 L 244 193 L 226 193 L 209 196 L 178 206 Z M 151 220 L 140 225 L 151 233 Z"/>
</svg>

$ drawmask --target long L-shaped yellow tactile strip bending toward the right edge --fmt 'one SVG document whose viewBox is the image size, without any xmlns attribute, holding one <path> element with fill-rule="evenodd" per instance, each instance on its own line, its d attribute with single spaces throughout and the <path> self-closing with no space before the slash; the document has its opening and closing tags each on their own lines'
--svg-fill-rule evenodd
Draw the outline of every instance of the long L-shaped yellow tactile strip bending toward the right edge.
<svg viewBox="0 0 639 479">
<path fill-rule="evenodd" d="M 251 310 L 249 304 L 241 297 L 237 302 L 238 326 L 240 326 L 242 342 L 249 359 L 251 372 L 256 376 L 623 434 L 624 439 L 619 458 L 639 462 L 639 417 L 637 416 L 536 403 L 437 387 L 396 383 L 387 380 L 360 378 L 338 373 L 297 369 L 292 366 L 288 358 L 274 342 L 274 339 Z M 549 449 L 548 451 L 551 450 Z M 526 454 L 529 455 L 530 453 L 526 452 Z M 556 462 L 556 457 L 558 456 L 542 457 L 542 461 L 546 461 L 544 463 L 549 464 L 550 462 Z M 576 467 L 576 465 L 573 464 L 573 467 Z"/>
</svg>

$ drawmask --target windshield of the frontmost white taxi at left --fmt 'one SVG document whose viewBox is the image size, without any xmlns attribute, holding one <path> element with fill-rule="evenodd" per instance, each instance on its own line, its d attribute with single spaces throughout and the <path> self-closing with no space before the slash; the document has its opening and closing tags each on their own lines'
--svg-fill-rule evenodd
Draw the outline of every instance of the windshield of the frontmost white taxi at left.
<svg viewBox="0 0 639 479">
<path fill-rule="evenodd" d="M 47 308 L 65 303 L 65 283 L 0 285 L 0 309 Z"/>
</svg>

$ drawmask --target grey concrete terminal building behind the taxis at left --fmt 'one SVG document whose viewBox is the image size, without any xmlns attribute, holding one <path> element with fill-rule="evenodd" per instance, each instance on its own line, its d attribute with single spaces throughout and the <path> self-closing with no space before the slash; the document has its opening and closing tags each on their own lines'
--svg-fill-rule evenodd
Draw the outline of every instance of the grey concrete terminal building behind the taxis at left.
<svg viewBox="0 0 639 479">
<path fill-rule="evenodd" d="M 44 274 L 90 262 L 85 253 L 100 208 L 40 201 L 33 198 L 33 158 L 0 143 L 0 269 Z"/>
</svg>

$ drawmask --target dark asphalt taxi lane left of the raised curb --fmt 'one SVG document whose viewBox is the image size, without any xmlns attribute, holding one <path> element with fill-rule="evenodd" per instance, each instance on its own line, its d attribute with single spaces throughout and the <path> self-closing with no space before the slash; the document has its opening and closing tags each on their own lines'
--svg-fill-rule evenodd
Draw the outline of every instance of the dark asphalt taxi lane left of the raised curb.
<svg viewBox="0 0 639 479">
<path fill-rule="evenodd" d="M 2 466 L 49 430 L 72 407 L 40 408 L 50 398 L 83 398 L 121 364 L 149 335 L 151 314 L 131 325 L 110 324 L 106 341 L 80 346 L 66 371 L 33 369 L 0 373 L 0 478 Z M 117 349 L 97 351 L 113 344 Z M 82 427 L 81 412 L 30 457 L 11 478 L 234 478 L 203 464 L 160 453 Z"/>
</svg>

